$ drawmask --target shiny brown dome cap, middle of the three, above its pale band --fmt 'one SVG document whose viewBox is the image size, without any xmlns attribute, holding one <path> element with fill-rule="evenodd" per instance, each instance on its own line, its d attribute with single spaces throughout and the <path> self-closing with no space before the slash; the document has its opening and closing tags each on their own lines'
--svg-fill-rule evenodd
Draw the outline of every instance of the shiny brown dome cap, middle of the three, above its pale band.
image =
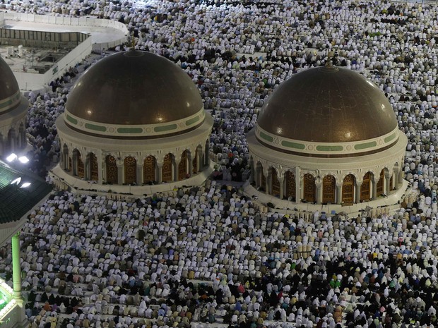
<svg viewBox="0 0 438 328">
<path fill-rule="evenodd" d="M 76 120 L 118 126 L 180 121 L 201 109 L 201 95 L 187 73 L 162 56 L 136 50 L 95 63 L 66 102 Z"/>
</svg>

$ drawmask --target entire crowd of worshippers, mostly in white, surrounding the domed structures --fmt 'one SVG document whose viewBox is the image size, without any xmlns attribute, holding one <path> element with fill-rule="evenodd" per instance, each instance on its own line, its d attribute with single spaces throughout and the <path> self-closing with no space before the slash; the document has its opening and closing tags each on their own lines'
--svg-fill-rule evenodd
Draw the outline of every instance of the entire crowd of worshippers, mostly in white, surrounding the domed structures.
<svg viewBox="0 0 438 328">
<path fill-rule="evenodd" d="M 181 66 L 213 113 L 219 178 L 241 178 L 245 133 L 276 86 L 329 57 L 378 85 L 408 135 L 404 171 L 412 189 L 393 215 L 264 214 L 216 181 L 126 202 L 52 195 L 21 237 L 32 328 L 437 326 L 435 4 L 4 0 L 0 6 L 120 20 L 137 49 Z M 30 95 L 32 165 L 41 174 L 57 161 L 54 120 L 71 83 L 53 85 Z M 0 253 L 10 275 L 11 251 Z"/>
</svg>

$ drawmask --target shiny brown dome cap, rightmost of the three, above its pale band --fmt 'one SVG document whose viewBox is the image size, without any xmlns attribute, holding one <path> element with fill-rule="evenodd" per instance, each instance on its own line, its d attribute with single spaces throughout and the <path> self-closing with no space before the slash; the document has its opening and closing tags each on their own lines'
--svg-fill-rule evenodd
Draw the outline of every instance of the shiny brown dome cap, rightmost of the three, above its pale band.
<svg viewBox="0 0 438 328">
<path fill-rule="evenodd" d="M 355 142 L 397 127 L 379 88 L 346 68 L 310 68 L 278 86 L 257 121 L 273 135 L 309 142 Z"/>
</svg>

